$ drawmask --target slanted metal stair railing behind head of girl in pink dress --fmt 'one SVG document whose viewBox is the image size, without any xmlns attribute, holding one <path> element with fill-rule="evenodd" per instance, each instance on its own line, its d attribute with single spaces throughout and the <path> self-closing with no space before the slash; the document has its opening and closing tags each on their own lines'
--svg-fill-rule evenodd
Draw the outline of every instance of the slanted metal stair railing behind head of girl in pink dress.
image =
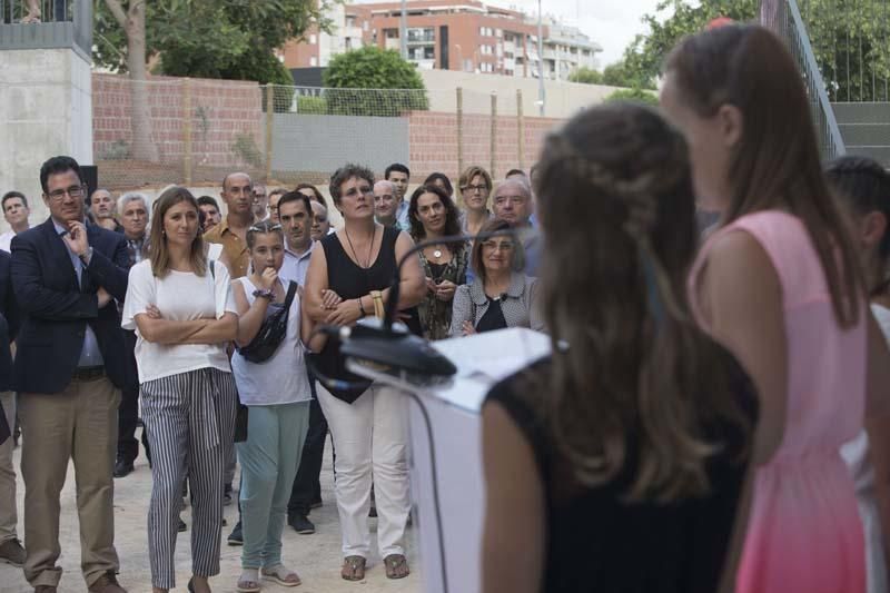
<svg viewBox="0 0 890 593">
<path fill-rule="evenodd" d="M 800 68 L 823 158 L 843 155 L 847 148 L 797 0 L 764 0 L 761 21 L 785 40 Z"/>
</svg>

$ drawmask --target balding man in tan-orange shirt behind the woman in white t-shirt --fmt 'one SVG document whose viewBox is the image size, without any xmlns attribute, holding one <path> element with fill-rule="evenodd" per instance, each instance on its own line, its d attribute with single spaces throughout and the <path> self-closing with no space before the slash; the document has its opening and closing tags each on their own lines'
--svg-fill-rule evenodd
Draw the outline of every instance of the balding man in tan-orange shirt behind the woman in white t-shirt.
<svg viewBox="0 0 890 593">
<path fill-rule="evenodd" d="M 246 172 L 233 172 L 222 179 L 220 196 L 228 213 L 217 226 L 204 234 L 207 243 L 222 246 L 219 260 L 229 269 L 233 279 L 247 276 L 250 256 L 247 253 L 247 229 L 254 224 L 254 185 Z"/>
</svg>

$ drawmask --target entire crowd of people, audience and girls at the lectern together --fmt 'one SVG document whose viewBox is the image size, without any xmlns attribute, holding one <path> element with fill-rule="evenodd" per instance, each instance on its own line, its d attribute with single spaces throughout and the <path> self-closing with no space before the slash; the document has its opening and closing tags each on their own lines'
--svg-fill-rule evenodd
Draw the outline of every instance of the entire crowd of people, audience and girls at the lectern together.
<svg viewBox="0 0 890 593">
<path fill-rule="evenodd" d="M 317 332 L 382 317 L 394 278 L 427 339 L 525 327 L 553 345 L 483 406 L 486 593 L 887 591 L 890 174 L 823 167 L 765 29 L 686 38 L 660 110 L 584 110 L 498 182 L 472 166 L 409 192 L 402 164 L 382 180 L 349 164 L 326 199 L 234 171 L 225 211 L 177 186 L 88 196 L 69 157 L 40 182 L 50 217 L 29 228 L 10 191 L 0 236 L 0 439 L 18 422 L 26 485 L 22 547 L 7 438 L 0 560 L 37 592 L 59 584 L 69 459 L 88 589 L 125 591 L 113 477 L 140 422 L 155 593 L 176 585 L 186 495 L 188 589 L 210 590 L 236 490 L 237 591 L 299 585 L 281 534 L 315 532 L 328 433 L 340 576 L 365 577 L 369 515 L 386 576 L 407 576 L 405 401 Z"/>
</svg>

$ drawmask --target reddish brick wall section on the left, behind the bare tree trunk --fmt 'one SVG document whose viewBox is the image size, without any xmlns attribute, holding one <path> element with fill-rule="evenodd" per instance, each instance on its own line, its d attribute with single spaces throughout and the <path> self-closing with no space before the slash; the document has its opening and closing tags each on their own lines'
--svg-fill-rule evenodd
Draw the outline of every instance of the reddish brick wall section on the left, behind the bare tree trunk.
<svg viewBox="0 0 890 593">
<path fill-rule="evenodd" d="M 263 97 L 256 82 L 151 77 L 147 82 L 148 101 L 151 144 L 158 162 L 132 161 L 131 82 L 126 76 L 93 73 L 92 141 L 100 182 L 132 187 L 182 181 L 188 117 L 186 85 L 191 86 L 191 158 L 196 180 L 216 178 L 219 170 L 247 165 L 234 149 L 239 136 L 253 140 L 261 152 Z"/>
</svg>

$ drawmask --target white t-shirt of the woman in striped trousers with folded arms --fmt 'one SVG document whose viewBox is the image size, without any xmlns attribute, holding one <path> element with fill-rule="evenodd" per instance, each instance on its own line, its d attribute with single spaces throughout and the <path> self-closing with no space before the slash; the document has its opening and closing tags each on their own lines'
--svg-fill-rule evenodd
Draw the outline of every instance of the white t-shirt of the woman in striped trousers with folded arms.
<svg viewBox="0 0 890 593">
<path fill-rule="evenodd" d="M 216 278 L 209 269 L 204 277 L 191 271 L 170 270 L 165 278 L 156 278 L 148 259 L 130 268 L 121 326 L 136 330 L 140 384 L 199 368 L 231 372 L 225 343 L 154 344 L 142 339 L 136 325 L 136 316 L 145 313 L 148 305 L 158 307 L 165 319 L 177 322 L 201 317 L 219 319 L 226 313 L 237 315 L 226 266 L 217 264 L 214 273 Z"/>
</svg>

